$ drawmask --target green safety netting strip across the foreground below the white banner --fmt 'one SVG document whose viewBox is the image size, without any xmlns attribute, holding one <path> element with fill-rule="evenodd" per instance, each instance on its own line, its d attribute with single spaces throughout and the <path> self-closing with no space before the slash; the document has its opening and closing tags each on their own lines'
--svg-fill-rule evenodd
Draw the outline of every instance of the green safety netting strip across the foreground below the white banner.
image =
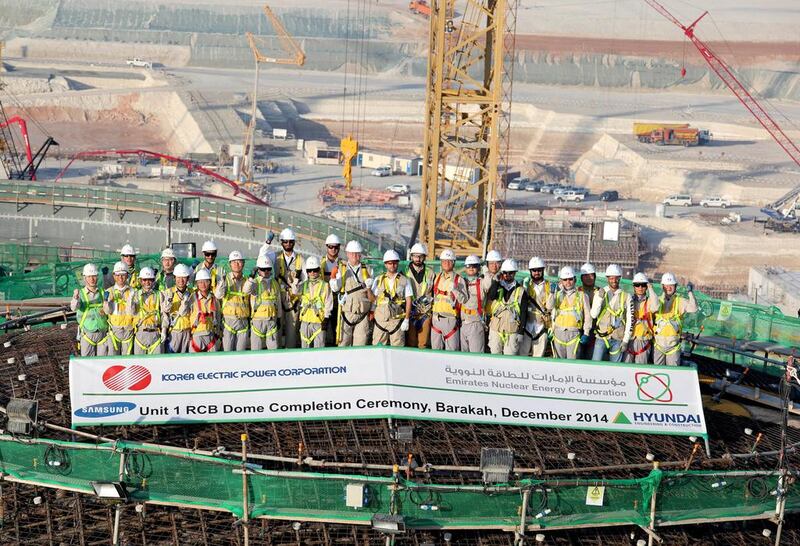
<svg viewBox="0 0 800 546">
<path fill-rule="evenodd" d="M 374 514 L 397 513 L 412 528 L 515 527 L 523 507 L 527 525 L 543 528 L 647 526 L 653 499 L 657 525 L 769 517 L 780 476 L 778 471 L 656 469 L 640 479 L 526 479 L 483 486 L 247 468 L 251 518 L 358 523 Z M 122 481 L 134 501 L 223 509 L 237 517 L 244 513 L 242 469 L 239 461 L 167 447 L 0 436 L 0 470 L 14 480 L 86 493 L 92 493 L 93 481 Z M 346 488 L 352 484 L 364 490 L 363 507 L 346 504 Z M 786 510 L 800 509 L 798 490 L 789 487 L 787 495 Z"/>
</svg>

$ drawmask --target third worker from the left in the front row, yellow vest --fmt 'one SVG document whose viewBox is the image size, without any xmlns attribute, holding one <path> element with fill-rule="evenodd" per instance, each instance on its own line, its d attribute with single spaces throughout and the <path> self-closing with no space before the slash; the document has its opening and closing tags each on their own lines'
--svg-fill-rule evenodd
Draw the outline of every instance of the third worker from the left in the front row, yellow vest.
<svg viewBox="0 0 800 546">
<path fill-rule="evenodd" d="M 133 354 L 155 355 L 163 352 L 161 337 L 166 317 L 161 313 L 161 296 L 156 287 L 156 272 L 150 267 L 139 271 L 142 287 L 133 296 Z"/>
</svg>

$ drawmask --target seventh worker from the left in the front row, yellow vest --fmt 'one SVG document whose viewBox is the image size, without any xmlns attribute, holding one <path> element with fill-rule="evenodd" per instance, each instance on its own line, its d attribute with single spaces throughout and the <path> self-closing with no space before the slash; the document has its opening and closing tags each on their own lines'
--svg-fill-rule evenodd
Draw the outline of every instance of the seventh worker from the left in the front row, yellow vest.
<svg viewBox="0 0 800 546">
<path fill-rule="evenodd" d="M 269 256 L 258 257 L 256 271 L 247 279 L 244 291 L 250 294 L 250 350 L 277 349 L 283 305 Z"/>
</svg>

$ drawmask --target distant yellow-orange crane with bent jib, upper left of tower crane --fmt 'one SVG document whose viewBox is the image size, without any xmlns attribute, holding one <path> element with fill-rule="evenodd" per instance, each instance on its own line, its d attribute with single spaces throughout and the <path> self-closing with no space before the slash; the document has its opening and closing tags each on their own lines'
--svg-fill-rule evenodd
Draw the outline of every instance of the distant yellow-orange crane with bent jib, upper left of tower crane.
<svg viewBox="0 0 800 546">
<path fill-rule="evenodd" d="M 269 6 L 264 5 L 264 15 L 267 20 L 272 23 L 272 28 L 275 29 L 275 34 L 281 43 L 281 47 L 286 53 L 286 57 L 268 57 L 261 53 L 259 49 L 260 38 L 257 38 L 253 33 L 247 32 L 247 43 L 250 45 L 250 50 L 253 52 L 253 59 L 256 63 L 256 74 L 253 82 L 253 103 L 250 109 L 250 123 L 247 124 L 247 129 L 244 135 L 244 158 L 241 168 L 241 179 L 244 180 L 245 187 L 251 187 L 253 184 L 253 149 L 255 148 L 255 130 L 256 130 L 256 110 L 258 107 L 258 80 L 262 63 L 272 64 L 287 64 L 295 66 L 303 66 L 306 62 L 306 54 L 289 35 L 286 28 L 281 23 L 280 19 L 272 12 Z"/>
</svg>

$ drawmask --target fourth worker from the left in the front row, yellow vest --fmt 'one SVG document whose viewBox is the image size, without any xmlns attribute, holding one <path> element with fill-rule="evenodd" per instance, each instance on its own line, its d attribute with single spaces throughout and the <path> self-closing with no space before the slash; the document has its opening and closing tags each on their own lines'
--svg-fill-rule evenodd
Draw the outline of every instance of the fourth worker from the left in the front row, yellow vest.
<svg viewBox="0 0 800 546">
<path fill-rule="evenodd" d="M 190 312 L 194 290 L 189 286 L 191 270 L 188 266 L 175 266 L 175 285 L 161 292 L 161 313 L 165 317 L 164 347 L 168 353 L 188 353 L 192 340 Z"/>
</svg>

